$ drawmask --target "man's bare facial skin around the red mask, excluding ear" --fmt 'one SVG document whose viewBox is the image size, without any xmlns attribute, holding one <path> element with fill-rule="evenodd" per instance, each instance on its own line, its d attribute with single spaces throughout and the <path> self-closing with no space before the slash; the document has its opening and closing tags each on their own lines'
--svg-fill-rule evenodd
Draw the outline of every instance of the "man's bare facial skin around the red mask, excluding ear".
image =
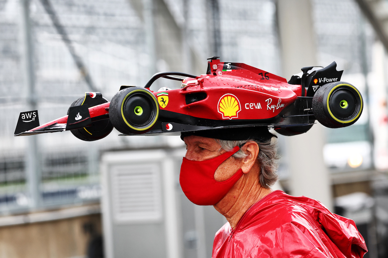
<svg viewBox="0 0 388 258">
<path fill-rule="evenodd" d="M 183 140 L 187 150 L 185 158 L 192 161 L 212 159 L 226 152 L 225 150 L 219 151 L 221 145 L 213 138 L 191 135 L 184 137 Z M 214 173 L 214 179 L 218 182 L 225 181 L 240 168 L 241 160 L 229 157 L 217 168 Z"/>
</svg>

